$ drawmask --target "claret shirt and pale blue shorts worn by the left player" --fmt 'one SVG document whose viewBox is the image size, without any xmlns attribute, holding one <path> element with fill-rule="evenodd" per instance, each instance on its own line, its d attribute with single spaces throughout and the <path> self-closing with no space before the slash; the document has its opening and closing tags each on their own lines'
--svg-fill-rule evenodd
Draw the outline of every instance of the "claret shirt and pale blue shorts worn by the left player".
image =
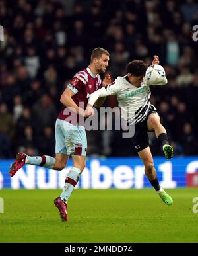
<svg viewBox="0 0 198 256">
<path fill-rule="evenodd" d="M 85 110 L 90 94 L 101 85 L 100 75 L 94 75 L 87 67 L 74 75 L 67 88 L 75 93 L 72 99 L 76 105 Z M 55 124 L 55 142 L 55 153 L 86 156 L 84 118 L 67 107 L 63 108 Z"/>
</svg>

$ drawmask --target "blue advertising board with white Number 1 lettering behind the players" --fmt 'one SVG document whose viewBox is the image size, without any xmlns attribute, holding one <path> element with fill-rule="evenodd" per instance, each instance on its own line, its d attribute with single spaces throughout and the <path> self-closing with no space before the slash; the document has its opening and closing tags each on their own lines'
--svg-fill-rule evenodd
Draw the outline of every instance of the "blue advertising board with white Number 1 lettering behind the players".
<svg viewBox="0 0 198 256">
<path fill-rule="evenodd" d="M 0 189 L 62 189 L 65 177 L 71 169 L 69 159 L 62 171 L 49 170 L 34 165 L 24 165 L 14 177 L 9 177 L 13 159 L 0 160 Z M 187 175 L 198 171 L 197 157 L 154 157 L 160 185 L 164 188 L 185 187 Z M 76 186 L 82 189 L 141 189 L 150 187 L 139 157 L 90 158 Z"/>
</svg>

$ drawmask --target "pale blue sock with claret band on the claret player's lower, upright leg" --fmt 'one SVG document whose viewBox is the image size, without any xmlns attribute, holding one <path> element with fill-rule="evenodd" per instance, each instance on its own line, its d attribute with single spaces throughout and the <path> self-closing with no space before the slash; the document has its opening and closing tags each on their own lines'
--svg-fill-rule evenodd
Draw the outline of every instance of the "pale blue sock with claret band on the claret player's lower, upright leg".
<svg viewBox="0 0 198 256">
<path fill-rule="evenodd" d="M 71 193 L 75 188 L 75 185 L 79 181 L 80 175 L 81 175 L 81 171 L 77 167 L 72 167 L 69 173 L 67 174 L 67 177 L 65 179 L 65 186 L 60 196 L 63 202 L 67 203 L 67 200 L 71 196 Z"/>
</svg>

